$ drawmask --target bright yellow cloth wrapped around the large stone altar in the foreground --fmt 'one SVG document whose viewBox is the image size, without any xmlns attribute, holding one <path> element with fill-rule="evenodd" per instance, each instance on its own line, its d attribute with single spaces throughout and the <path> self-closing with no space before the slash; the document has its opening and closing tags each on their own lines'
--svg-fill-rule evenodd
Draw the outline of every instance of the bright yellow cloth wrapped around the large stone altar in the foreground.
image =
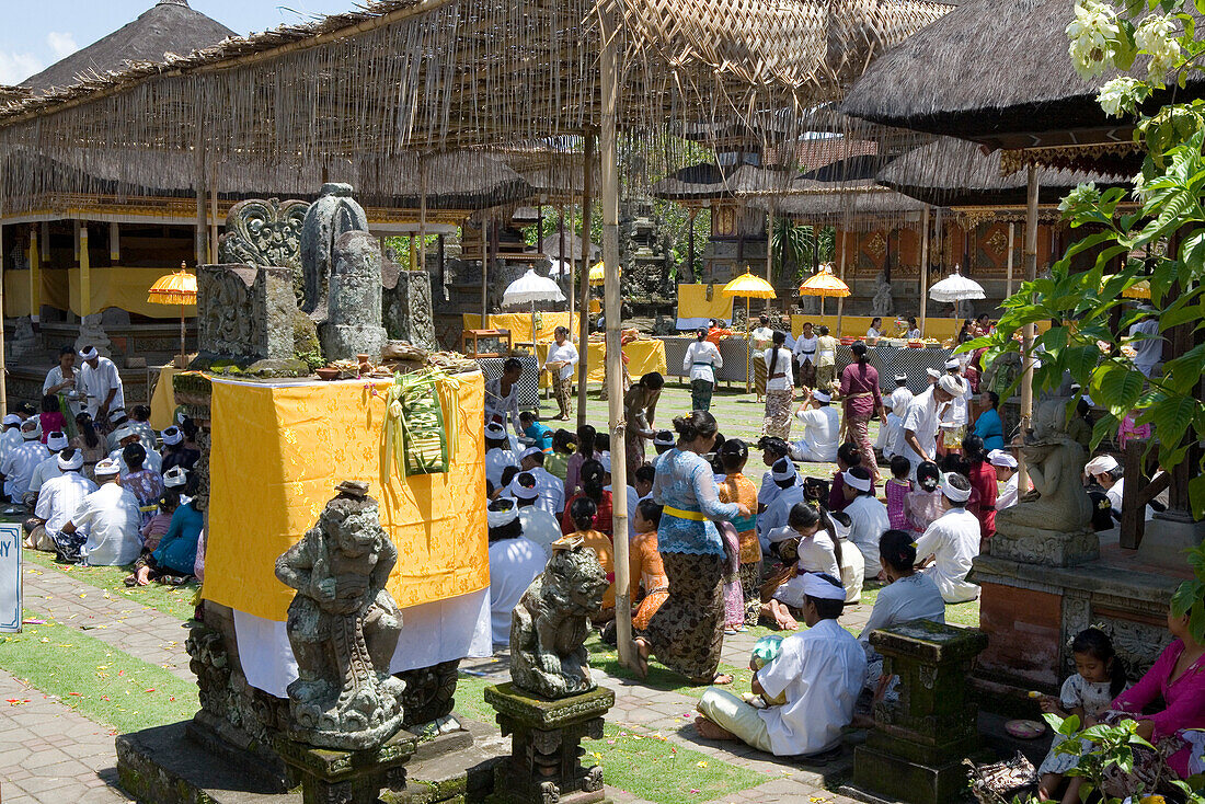
<svg viewBox="0 0 1205 804">
<path fill-rule="evenodd" d="M 389 592 L 402 609 L 489 586 L 482 376 L 459 375 L 452 470 L 388 479 L 382 492 L 384 389 L 390 380 L 269 387 L 213 382 L 207 600 L 284 621 L 293 589 L 276 558 L 305 535 L 343 480 L 370 485 L 398 546 Z M 445 410 L 445 416 L 452 411 Z"/>
</svg>

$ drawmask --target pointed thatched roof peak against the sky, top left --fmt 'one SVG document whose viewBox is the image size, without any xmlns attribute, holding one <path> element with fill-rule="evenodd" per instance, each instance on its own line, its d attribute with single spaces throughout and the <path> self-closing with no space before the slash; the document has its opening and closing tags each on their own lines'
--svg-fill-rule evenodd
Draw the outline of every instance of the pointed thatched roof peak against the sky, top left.
<svg viewBox="0 0 1205 804">
<path fill-rule="evenodd" d="M 35 90 L 70 87 L 82 76 L 119 72 L 129 61 L 165 61 L 167 53 L 187 55 L 237 34 L 189 7 L 188 0 L 158 0 L 137 19 L 76 51 L 20 83 Z"/>
</svg>

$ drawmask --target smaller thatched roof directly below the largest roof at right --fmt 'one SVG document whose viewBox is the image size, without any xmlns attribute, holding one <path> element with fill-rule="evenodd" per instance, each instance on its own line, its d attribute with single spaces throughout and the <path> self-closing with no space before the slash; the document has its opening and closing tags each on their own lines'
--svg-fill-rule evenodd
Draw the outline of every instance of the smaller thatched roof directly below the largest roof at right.
<svg viewBox="0 0 1205 804">
<path fill-rule="evenodd" d="M 966 140 L 941 137 L 883 168 L 880 184 L 936 206 L 1021 206 L 1025 204 L 1024 171 L 1000 175 L 1000 154 L 984 154 Z M 1125 176 L 1041 168 L 1039 201 L 1058 204 L 1076 186 L 1125 184 Z"/>
</svg>

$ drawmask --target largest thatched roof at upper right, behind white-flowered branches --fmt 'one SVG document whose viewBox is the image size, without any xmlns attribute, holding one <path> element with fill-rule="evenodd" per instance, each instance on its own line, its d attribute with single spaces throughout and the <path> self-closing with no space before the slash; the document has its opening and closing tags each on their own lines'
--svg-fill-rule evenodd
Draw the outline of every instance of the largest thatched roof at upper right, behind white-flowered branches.
<svg viewBox="0 0 1205 804">
<path fill-rule="evenodd" d="M 1071 64 L 1074 16 L 1072 0 L 966 0 L 881 55 L 841 108 L 993 147 L 1128 139 L 1125 123 L 1095 102 L 1111 76 L 1084 80 Z M 1147 63 L 1135 61 L 1134 74 Z M 1059 135 L 1066 131 L 1078 134 Z"/>
</svg>

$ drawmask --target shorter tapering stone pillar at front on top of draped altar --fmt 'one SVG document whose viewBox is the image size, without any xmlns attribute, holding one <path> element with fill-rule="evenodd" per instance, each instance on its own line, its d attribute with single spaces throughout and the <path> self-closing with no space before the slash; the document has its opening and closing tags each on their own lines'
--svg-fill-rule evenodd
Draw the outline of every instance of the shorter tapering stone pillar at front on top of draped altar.
<svg viewBox="0 0 1205 804">
<path fill-rule="evenodd" d="M 387 336 L 381 325 L 381 246 L 366 231 L 345 231 L 331 251 L 327 317 L 318 327 L 328 360 L 381 357 Z"/>
</svg>

